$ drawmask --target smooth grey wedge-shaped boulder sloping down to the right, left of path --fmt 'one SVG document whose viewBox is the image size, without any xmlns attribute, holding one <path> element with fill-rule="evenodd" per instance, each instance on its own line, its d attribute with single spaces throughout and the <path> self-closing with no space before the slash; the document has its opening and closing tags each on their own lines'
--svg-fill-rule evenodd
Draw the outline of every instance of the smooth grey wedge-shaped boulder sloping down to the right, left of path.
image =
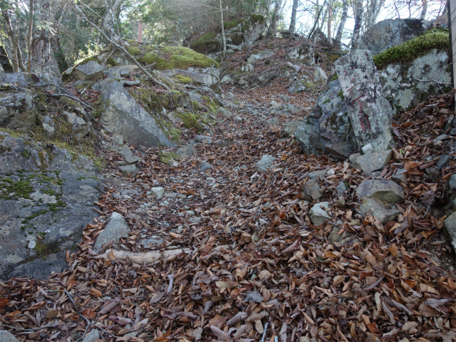
<svg viewBox="0 0 456 342">
<path fill-rule="evenodd" d="M 95 90 L 100 91 L 105 111 L 100 123 L 111 134 L 123 136 L 130 145 L 146 147 L 175 147 L 160 130 L 155 120 L 147 113 L 117 81 L 103 80 L 95 83 Z"/>
</svg>

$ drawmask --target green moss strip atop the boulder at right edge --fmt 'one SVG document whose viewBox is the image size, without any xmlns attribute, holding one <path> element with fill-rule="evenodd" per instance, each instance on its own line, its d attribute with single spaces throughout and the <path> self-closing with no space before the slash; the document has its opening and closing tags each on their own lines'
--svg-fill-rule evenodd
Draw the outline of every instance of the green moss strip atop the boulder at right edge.
<svg viewBox="0 0 456 342">
<path fill-rule="evenodd" d="M 447 33 L 425 33 L 423 36 L 413 38 L 399 46 L 388 48 L 388 50 L 374 56 L 373 61 L 375 66 L 380 69 L 390 63 L 413 61 L 413 59 L 425 55 L 434 48 L 437 50 L 450 49 L 450 39 Z"/>
</svg>

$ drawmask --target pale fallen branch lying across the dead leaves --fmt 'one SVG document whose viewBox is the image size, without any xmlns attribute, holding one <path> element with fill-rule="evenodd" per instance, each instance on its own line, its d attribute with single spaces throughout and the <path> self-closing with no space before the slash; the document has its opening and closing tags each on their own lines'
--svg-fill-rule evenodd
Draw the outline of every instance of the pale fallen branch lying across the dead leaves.
<svg viewBox="0 0 456 342">
<path fill-rule="evenodd" d="M 95 259 L 123 260 L 136 264 L 151 264 L 160 258 L 163 258 L 165 260 L 174 259 L 181 253 L 190 253 L 190 249 L 166 249 L 165 251 L 152 251 L 142 253 L 108 249 L 105 253 L 98 255 L 98 257 L 95 257 Z"/>
</svg>

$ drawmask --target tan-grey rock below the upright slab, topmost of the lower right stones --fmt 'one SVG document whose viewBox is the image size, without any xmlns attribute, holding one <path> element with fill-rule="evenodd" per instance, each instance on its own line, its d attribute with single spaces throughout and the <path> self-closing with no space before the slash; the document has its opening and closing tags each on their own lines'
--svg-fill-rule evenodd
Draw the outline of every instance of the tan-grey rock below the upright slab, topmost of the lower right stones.
<svg viewBox="0 0 456 342">
<path fill-rule="evenodd" d="M 356 189 L 356 196 L 395 203 L 404 199 L 404 190 L 392 180 L 364 180 Z"/>
</svg>

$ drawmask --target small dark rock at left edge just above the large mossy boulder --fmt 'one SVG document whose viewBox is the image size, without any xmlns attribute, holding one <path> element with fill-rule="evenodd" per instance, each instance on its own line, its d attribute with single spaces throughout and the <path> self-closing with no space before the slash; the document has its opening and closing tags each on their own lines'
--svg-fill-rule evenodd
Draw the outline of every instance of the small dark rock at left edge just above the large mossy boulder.
<svg viewBox="0 0 456 342">
<path fill-rule="evenodd" d="M 0 96 L 0 127 L 15 130 L 31 128 L 37 124 L 30 93 L 6 93 Z"/>
</svg>

